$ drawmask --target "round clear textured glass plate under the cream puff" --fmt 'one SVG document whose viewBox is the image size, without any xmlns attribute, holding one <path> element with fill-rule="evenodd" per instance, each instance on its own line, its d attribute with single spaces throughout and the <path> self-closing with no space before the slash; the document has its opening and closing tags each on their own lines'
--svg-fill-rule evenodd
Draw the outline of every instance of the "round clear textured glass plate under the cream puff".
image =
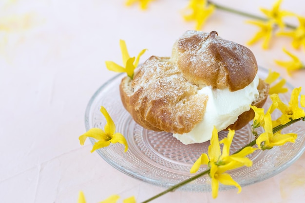
<svg viewBox="0 0 305 203">
<path fill-rule="evenodd" d="M 258 74 L 261 78 L 265 78 L 267 72 L 266 69 L 259 68 Z M 189 172 L 191 166 L 202 153 L 207 153 L 210 141 L 184 145 L 172 137 L 171 133 L 147 130 L 136 124 L 121 103 L 119 83 L 124 76 L 125 74 L 116 75 L 95 92 L 86 109 L 85 125 L 86 130 L 104 129 L 106 120 L 99 111 L 100 106 L 104 106 L 116 124 L 116 132 L 121 132 L 125 136 L 129 149 L 124 153 L 124 146 L 117 143 L 98 149 L 97 153 L 119 171 L 153 185 L 170 187 L 188 179 L 192 176 Z M 289 92 L 280 94 L 286 104 L 290 99 L 292 87 L 288 85 L 288 89 Z M 265 108 L 268 108 L 270 104 L 270 100 L 267 99 Z M 286 169 L 302 155 L 305 150 L 304 123 L 297 122 L 282 132 L 298 133 L 296 142 L 274 147 L 271 150 L 257 150 L 249 155 L 253 166 L 229 171 L 237 183 L 244 186 L 266 180 Z M 226 131 L 219 133 L 220 140 L 225 136 L 227 136 Z M 251 127 L 248 124 L 236 131 L 230 152 L 236 151 L 253 139 Z M 95 143 L 94 139 L 90 140 L 93 144 Z M 206 167 L 203 166 L 200 171 L 205 169 Z M 231 188 L 234 186 L 219 185 L 220 190 Z M 204 176 L 179 189 L 210 191 L 210 178 Z"/>
</svg>

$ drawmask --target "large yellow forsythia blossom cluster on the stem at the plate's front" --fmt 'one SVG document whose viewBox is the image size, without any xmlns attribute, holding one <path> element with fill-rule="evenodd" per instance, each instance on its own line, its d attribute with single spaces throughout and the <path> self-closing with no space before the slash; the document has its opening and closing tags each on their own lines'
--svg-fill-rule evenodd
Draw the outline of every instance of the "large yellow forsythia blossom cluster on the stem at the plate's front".
<svg viewBox="0 0 305 203">
<path fill-rule="evenodd" d="M 191 167 L 191 173 L 198 171 L 200 165 L 210 166 L 210 178 L 212 187 L 212 197 L 218 195 L 219 183 L 224 185 L 234 185 L 238 188 L 238 193 L 241 192 L 241 186 L 236 183 L 232 177 L 225 173 L 228 170 L 235 169 L 241 166 L 252 166 L 252 161 L 246 156 L 251 154 L 256 148 L 247 147 L 236 154 L 229 155 L 230 145 L 232 143 L 235 131 L 229 130 L 227 138 L 219 142 L 217 129 L 214 127 L 208 148 L 208 154 L 203 153 Z M 222 153 L 220 144 L 224 144 Z"/>
</svg>

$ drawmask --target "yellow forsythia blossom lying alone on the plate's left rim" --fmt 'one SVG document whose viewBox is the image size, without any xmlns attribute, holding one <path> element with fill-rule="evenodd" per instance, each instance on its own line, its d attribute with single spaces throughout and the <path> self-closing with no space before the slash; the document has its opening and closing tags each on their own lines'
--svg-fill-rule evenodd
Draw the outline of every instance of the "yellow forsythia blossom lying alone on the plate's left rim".
<svg viewBox="0 0 305 203">
<path fill-rule="evenodd" d="M 125 152 L 128 149 L 127 141 L 124 138 L 124 136 L 116 132 L 115 133 L 115 125 L 110 117 L 109 113 L 104 107 L 101 107 L 100 111 L 103 113 L 103 115 L 106 118 L 106 125 L 105 125 L 105 131 L 99 128 L 92 128 L 89 129 L 86 133 L 83 135 L 79 136 L 79 142 L 81 145 L 83 145 L 87 139 L 87 137 L 92 137 L 98 140 L 96 142 L 91 150 L 91 152 L 95 151 L 98 148 L 104 148 L 110 145 L 110 143 L 120 143 L 125 145 Z"/>
</svg>

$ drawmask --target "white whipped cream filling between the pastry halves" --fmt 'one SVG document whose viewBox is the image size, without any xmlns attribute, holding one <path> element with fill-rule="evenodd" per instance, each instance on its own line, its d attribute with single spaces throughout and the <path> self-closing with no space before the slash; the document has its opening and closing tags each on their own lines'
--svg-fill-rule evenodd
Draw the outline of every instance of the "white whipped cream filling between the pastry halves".
<svg viewBox="0 0 305 203">
<path fill-rule="evenodd" d="M 210 86 L 198 90 L 197 94 L 209 96 L 202 121 L 191 132 L 175 133 L 173 136 L 185 145 L 210 140 L 214 126 L 218 131 L 226 129 L 235 123 L 240 114 L 250 110 L 249 105 L 259 96 L 258 84 L 259 77 L 256 75 L 247 87 L 235 92 L 230 92 L 229 89 L 212 89 Z"/>
</svg>

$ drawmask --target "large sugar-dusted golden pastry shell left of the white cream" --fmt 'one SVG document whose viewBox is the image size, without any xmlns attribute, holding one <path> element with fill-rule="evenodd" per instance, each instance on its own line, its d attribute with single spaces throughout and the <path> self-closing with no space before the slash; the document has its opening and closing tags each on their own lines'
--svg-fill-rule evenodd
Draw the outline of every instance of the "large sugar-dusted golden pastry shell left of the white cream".
<svg viewBox="0 0 305 203">
<path fill-rule="evenodd" d="M 207 96 L 181 75 L 165 57 L 150 57 L 134 75 L 122 79 L 122 103 L 135 122 L 146 129 L 185 133 L 204 115 Z"/>
</svg>

